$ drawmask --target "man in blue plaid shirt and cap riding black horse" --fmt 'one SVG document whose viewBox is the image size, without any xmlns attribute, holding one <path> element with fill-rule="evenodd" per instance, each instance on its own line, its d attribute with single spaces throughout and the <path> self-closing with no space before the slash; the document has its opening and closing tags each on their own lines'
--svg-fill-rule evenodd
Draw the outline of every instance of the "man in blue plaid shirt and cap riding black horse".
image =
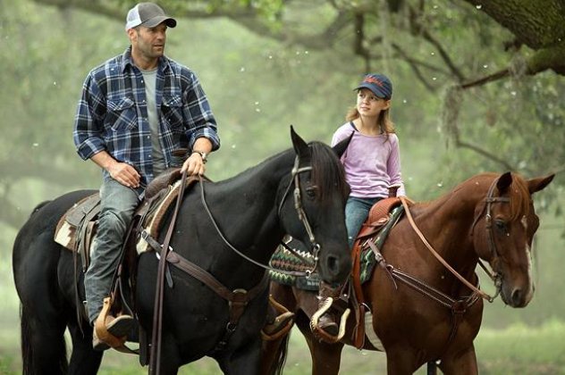
<svg viewBox="0 0 565 375">
<path fill-rule="evenodd" d="M 97 237 L 84 282 L 93 325 L 110 295 L 122 240 L 145 187 L 179 166 L 173 150 L 188 148 L 181 171 L 202 175 L 207 154 L 220 146 L 197 76 L 164 55 L 167 28 L 176 23 L 157 4 L 135 5 L 125 25 L 131 46 L 90 71 L 82 87 L 74 143 L 82 159 L 103 170 Z M 126 336 L 132 325 L 129 315 L 106 320 L 114 337 Z M 93 346 L 109 347 L 96 329 Z"/>
</svg>

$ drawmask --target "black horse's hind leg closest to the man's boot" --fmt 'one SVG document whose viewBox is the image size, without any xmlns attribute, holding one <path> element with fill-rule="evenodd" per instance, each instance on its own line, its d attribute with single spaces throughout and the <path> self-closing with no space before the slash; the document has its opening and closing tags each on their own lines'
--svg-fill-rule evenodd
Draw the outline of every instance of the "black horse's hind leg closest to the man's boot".
<svg viewBox="0 0 565 375">
<path fill-rule="evenodd" d="M 69 375 L 95 375 L 102 362 L 104 352 L 92 349 L 92 328 L 83 326 L 84 335 L 76 323 L 69 324 L 72 338 L 72 354 L 69 362 Z"/>
</svg>

